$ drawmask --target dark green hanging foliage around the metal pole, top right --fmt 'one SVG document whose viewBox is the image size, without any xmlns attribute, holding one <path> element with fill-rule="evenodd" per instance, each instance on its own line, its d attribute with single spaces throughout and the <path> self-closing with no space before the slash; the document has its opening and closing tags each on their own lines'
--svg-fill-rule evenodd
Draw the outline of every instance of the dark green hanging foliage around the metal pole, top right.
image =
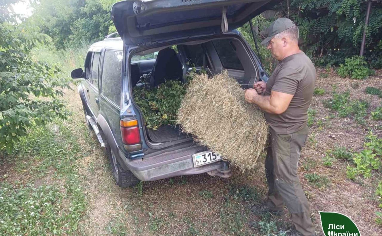
<svg viewBox="0 0 382 236">
<path fill-rule="evenodd" d="M 290 18 L 299 26 L 300 44 L 318 65 L 339 65 L 358 55 L 364 30 L 367 0 L 292 0 Z M 286 1 L 276 10 L 286 16 Z M 365 57 L 373 67 L 382 65 L 382 6 L 373 4 L 366 27 Z"/>
</svg>

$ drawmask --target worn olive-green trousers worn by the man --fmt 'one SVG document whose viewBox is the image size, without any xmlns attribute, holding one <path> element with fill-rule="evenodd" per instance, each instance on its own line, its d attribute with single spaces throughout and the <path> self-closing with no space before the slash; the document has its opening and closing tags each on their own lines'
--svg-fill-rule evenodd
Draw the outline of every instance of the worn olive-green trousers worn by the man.
<svg viewBox="0 0 382 236">
<path fill-rule="evenodd" d="M 270 146 L 265 159 L 268 181 L 267 206 L 283 210 L 283 203 L 291 213 L 296 230 L 304 236 L 312 236 L 314 225 L 309 214 L 309 204 L 297 175 L 301 148 L 308 138 L 308 126 L 291 134 L 276 134 L 271 129 Z"/>
</svg>

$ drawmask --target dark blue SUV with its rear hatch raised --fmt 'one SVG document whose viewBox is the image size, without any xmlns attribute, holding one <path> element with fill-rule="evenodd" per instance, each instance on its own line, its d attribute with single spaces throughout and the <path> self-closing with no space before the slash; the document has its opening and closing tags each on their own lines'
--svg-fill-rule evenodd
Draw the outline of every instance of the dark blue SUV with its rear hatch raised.
<svg viewBox="0 0 382 236">
<path fill-rule="evenodd" d="M 155 87 L 165 79 L 185 82 L 188 71 L 204 68 L 210 75 L 227 70 L 243 88 L 267 81 L 260 60 L 234 29 L 277 2 L 127 0 L 113 5 L 111 18 L 121 37 L 92 44 L 84 70 L 71 76 L 84 78 L 78 92 L 86 122 L 106 149 L 119 186 L 200 173 L 230 176 L 218 154 L 178 127 L 148 129 L 133 88 Z"/>
</svg>

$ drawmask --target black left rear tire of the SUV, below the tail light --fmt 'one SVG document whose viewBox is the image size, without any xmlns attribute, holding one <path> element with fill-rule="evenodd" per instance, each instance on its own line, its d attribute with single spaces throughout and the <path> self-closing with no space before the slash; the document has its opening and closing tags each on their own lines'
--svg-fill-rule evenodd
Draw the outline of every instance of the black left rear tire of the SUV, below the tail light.
<svg viewBox="0 0 382 236">
<path fill-rule="evenodd" d="M 118 163 L 113 150 L 108 144 L 106 145 L 106 153 L 110 160 L 110 166 L 112 168 L 113 177 L 118 186 L 120 186 L 121 188 L 126 188 L 139 183 L 140 180 L 137 177 L 135 177 L 131 171 L 124 170 L 122 166 Z"/>
</svg>

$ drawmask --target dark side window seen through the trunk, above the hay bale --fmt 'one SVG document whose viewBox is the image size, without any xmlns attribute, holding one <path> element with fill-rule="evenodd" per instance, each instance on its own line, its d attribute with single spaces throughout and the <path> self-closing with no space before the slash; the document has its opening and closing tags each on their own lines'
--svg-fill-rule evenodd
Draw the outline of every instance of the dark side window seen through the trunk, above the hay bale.
<svg viewBox="0 0 382 236">
<path fill-rule="evenodd" d="M 243 65 L 236 55 L 236 47 L 231 39 L 219 39 L 212 41 L 217 54 L 226 69 L 244 70 Z"/>
</svg>

